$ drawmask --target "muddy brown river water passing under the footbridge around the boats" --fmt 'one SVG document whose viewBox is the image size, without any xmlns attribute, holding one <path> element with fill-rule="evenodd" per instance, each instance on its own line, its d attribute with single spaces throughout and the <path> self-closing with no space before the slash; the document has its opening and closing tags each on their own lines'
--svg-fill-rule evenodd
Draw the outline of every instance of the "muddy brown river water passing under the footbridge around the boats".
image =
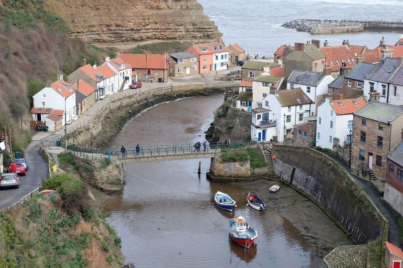
<svg viewBox="0 0 403 268">
<path fill-rule="evenodd" d="M 186 98 L 152 107 L 132 118 L 112 145 L 119 148 L 203 141 L 222 95 Z M 201 161 L 202 174 L 197 168 Z M 269 194 L 267 180 L 248 184 L 205 179 L 210 160 L 125 164 L 123 192 L 103 205 L 122 239 L 125 263 L 135 267 L 318 267 L 333 247 L 349 244 L 314 204 L 283 186 Z M 267 202 L 265 212 L 246 206 L 251 189 Z M 228 219 L 214 206 L 219 190 L 237 201 L 259 234 L 249 249 L 228 238 Z M 294 205 L 291 199 L 296 198 Z"/>
</svg>

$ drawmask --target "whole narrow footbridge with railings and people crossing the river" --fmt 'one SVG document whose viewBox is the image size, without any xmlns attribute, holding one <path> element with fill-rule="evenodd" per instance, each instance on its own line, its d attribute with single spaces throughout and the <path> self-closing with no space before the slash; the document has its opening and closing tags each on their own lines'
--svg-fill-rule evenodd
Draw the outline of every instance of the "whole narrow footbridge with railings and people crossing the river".
<svg viewBox="0 0 403 268">
<path fill-rule="evenodd" d="M 180 144 L 180 145 L 162 145 L 152 147 L 125 148 L 121 149 L 97 149 L 94 147 L 79 146 L 69 144 L 68 150 L 74 155 L 87 158 L 90 160 L 97 159 L 115 159 L 120 164 L 128 163 L 142 163 L 142 162 L 159 162 L 159 161 L 172 161 L 172 160 L 187 160 L 187 159 L 200 159 L 200 158 L 215 158 L 220 154 L 223 148 L 238 148 L 254 144 L 254 141 L 243 141 L 230 143 L 229 146 L 224 143 L 210 143 L 204 148 L 198 149 L 193 144 Z"/>
</svg>

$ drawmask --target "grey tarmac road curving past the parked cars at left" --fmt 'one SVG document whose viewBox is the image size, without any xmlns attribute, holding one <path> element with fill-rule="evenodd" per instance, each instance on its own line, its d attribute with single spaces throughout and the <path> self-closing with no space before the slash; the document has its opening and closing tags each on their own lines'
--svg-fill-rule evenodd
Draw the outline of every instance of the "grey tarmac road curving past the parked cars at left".
<svg viewBox="0 0 403 268">
<path fill-rule="evenodd" d="M 41 186 L 42 179 L 47 179 L 48 165 L 39 155 L 40 144 L 40 141 L 32 141 L 25 149 L 28 171 L 25 176 L 19 177 L 19 188 L 0 189 L 0 209 L 15 203 L 36 187 Z"/>
</svg>

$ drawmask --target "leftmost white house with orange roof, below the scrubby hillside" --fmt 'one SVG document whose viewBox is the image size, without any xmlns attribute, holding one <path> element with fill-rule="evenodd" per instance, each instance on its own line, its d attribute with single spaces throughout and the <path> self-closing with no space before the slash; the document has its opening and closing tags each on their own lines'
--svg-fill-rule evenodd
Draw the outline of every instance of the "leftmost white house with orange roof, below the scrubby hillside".
<svg viewBox="0 0 403 268">
<path fill-rule="evenodd" d="M 63 81 L 63 75 L 58 74 L 58 81 L 46 82 L 46 87 L 32 96 L 36 108 L 53 108 L 66 110 L 67 123 L 78 118 L 76 106 L 76 90 L 72 83 Z M 44 121 L 44 120 L 43 120 Z"/>
</svg>

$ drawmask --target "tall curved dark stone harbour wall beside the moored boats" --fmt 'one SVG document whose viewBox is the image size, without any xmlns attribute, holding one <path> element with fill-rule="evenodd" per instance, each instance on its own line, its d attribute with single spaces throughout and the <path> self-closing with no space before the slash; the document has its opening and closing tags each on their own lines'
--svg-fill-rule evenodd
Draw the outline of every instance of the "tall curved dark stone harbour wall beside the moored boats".
<svg viewBox="0 0 403 268">
<path fill-rule="evenodd" d="M 273 145 L 276 174 L 308 195 L 357 243 L 382 237 L 388 221 L 333 159 L 306 147 Z"/>
</svg>

